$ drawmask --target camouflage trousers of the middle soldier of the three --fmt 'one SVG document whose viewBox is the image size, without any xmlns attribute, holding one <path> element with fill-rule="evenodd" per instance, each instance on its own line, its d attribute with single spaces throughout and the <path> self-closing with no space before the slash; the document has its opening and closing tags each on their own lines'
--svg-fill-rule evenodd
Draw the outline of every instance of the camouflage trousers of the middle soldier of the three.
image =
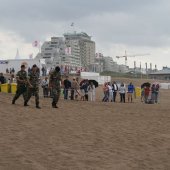
<svg viewBox="0 0 170 170">
<path fill-rule="evenodd" d="M 39 106 L 39 88 L 38 87 L 33 87 L 33 88 L 28 87 L 27 97 L 26 97 L 25 102 L 27 103 L 33 94 L 35 96 L 35 104 L 36 106 Z"/>
</svg>

